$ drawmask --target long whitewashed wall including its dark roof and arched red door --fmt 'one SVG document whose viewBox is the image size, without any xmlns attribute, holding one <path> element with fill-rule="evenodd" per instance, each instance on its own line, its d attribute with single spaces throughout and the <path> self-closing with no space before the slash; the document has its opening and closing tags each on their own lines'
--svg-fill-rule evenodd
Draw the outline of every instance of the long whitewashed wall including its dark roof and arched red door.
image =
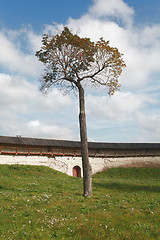
<svg viewBox="0 0 160 240">
<path fill-rule="evenodd" d="M 160 143 L 89 143 L 93 174 L 113 167 L 160 167 Z M 48 166 L 82 176 L 80 142 L 0 136 L 0 164 Z"/>
</svg>

